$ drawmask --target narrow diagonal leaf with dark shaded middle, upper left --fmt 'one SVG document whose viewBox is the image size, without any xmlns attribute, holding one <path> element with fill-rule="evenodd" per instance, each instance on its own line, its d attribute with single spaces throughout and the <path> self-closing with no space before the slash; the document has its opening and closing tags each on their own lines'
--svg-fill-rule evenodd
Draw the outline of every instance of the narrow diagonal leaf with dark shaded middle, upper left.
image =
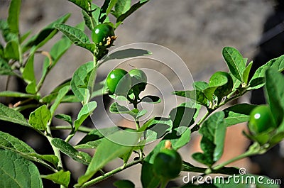
<svg viewBox="0 0 284 188">
<path fill-rule="evenodd" d="M 58 33 L 58 30 L 55 29 L 55 25 L 58 23 L 65 23 L 67 19 L 70 17 L 70 13 L 61 16 L 56 21 L 53 21 L 48 26 L 45 26 L 37 35 L 33 35 L 24 45 L 23 45 L 23 52 L 26 52 L 32 46 L 35 46 L 33 52 L 43 46 L 45 43 L 48 42 L 53 36 Z"/>
</svg>

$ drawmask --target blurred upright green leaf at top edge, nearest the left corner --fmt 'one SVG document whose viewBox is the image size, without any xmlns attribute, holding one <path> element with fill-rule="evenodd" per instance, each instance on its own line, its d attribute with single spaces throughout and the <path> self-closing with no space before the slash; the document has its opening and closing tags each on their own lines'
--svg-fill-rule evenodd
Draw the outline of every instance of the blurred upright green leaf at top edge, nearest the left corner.
<svg viewBox="0 0 284 188">
<path fill-rule="evenodd" d="M 9 6 L 9 16 L 7 22 L 11 33 L 18 34 L 18 18 L 20 15 L 21 0 L 12 0 Z"/>
</svg>

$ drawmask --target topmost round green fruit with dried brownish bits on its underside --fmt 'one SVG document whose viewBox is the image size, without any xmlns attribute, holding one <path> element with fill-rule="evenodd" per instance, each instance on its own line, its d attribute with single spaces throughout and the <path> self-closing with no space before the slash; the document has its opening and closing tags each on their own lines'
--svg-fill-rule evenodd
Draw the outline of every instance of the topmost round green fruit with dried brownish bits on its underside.
<svg viewBox="0 0 284 188">
<path fill-rule="evenodd" d="M 106 48 L 111 47 L 115 40 L 114 28 L 108 23 L 97 25 L 92 31 L 92 40 L 99 46 L 105 46 Z"/>
</svg>

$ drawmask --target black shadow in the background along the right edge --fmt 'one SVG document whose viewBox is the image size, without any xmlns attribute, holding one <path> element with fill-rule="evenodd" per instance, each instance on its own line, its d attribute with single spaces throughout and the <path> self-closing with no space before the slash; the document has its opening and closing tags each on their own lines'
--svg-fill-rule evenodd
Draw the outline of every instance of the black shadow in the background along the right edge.
<svg viewBox="0 0 284 188">
<path fill-rule="evenodd" d="M 251 73 L 256 72 L 258 67 L 280 55 L 284 55 L 284 1 L 275 0 L 275 9 L 263 25 L 263 34 L 258 52 L 253 58 Z M 265 97 L 262 88 L 256 89 L 251 92 L 251 104 L 266 104 Z M 263 155 L 251 157 L 251 161 L 258 165 L 259 175 L 266 175 L 272 179 L 281 179 L 281 187 L 284 187 L 284 159 L 280 155 L 280 150 L 283 150 L 283 148 L 280 145 L 276 145 Z"/>
</svg>

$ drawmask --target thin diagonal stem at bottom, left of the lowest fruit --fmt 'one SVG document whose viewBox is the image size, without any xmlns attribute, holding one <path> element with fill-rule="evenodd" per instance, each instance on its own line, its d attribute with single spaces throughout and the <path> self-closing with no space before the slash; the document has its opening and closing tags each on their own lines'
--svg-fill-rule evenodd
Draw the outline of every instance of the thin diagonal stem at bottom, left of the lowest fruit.
<svg viewBox="0 0 284 188">
<path fill-rule="evenodd" d="M 89 182 L 85 182 L 84 184 L 82 184 L 81 188 L 89 187 L 93 184 L 97 184 L 98 182 L 101 182 L 102 180 L 107 179 L 108 177 L 111 177 L 112 175 L 115 175 L 116 173 L 121 172 L 122 170 L 125 170 L 126 168 L 129 168 L 129 167 L 132 167 L 133 165 L 141 163 L 142 160 L 136 160 L 136 161 L 130 162 L 129 164 L 126 164 L 126 165 L 118 167 L 114 170 L 111 170 L 111 171 L 105 173 L 104 175 L 101 175 L 99 177 L 96 177 L 96 178 L 90 180 Z"/>
</svg>

